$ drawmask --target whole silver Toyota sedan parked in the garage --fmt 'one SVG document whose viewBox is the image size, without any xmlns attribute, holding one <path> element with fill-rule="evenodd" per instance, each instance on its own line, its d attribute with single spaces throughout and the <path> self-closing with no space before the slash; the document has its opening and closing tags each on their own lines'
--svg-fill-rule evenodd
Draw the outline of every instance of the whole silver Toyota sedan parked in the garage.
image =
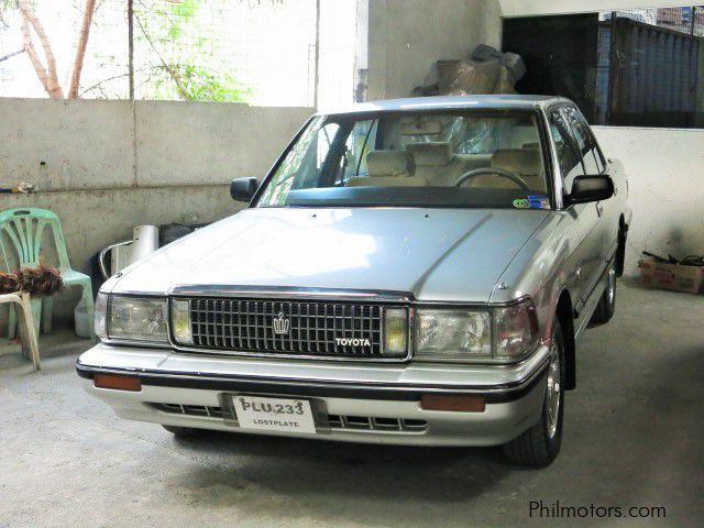
<svg viewBox="0 0 704 528">
<path fill-rule="evenodd" d="M 249 207 L 111 277 L 85 388 L 128 419 L 557 457 L 578 338 L 614 314 L 628 183 L 571 101 L 314 116 Z M 575 409 L 576 411 L 576 409 Z"/>
</svg>

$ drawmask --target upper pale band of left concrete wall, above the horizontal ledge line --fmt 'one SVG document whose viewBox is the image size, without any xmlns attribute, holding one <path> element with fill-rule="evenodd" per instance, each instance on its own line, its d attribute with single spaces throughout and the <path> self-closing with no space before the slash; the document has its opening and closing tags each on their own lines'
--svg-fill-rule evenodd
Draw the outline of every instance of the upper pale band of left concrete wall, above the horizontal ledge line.
<svg viewBox="0 0 704 528">
<path fill-rule="evenodd" d="M 243 105 L 0 99 L 0 180 L 26 180 L 47 191 L 262 176 L 311 113 Z"/>
</svg>

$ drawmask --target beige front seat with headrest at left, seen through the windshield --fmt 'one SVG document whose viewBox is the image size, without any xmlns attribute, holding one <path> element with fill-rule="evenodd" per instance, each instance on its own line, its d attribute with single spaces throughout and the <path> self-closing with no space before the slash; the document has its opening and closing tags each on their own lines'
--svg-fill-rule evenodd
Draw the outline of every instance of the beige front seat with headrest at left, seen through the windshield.
<svg viewBox="0 0 704 528">
<path fill-rule="evenodd" d="M 428 183 L 414 175 L 413 158 L 406 151 L 371 151 L 366 155 L 369 176 L 353 176 L 346 187 L 418 187 Z"/>
</svg>

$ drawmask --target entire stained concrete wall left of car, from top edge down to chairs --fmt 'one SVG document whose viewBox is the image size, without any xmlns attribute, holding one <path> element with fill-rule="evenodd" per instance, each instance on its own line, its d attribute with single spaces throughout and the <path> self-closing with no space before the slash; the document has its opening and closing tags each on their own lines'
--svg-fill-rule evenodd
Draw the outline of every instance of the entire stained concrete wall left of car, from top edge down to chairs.
<svg viewBox="0 0 704 528">
<path fill-rule="evenodd" d="M 62 221 L 74 268 L 134 226 L 205 223 L 238 210 L 229 182 L 263 177 L 309 108 L 162 101 L 0 99 L 0 210 L 41 207 Z M 52 254 L 50 253 L 50 257 Z M 58 304 L 70 314 L 76 295 Z M 1 316 L 0 316 L 1 318 Z"/>
</svg>

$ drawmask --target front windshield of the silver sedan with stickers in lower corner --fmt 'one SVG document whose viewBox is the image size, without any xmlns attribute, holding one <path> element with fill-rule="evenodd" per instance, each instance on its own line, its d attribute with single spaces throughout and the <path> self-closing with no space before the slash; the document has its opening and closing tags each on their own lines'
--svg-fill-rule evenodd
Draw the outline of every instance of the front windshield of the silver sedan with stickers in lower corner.
<svg viewBox="0 0 704 528">
<path fill-rule="evenodd" d="M 549 209 L 538 127 L 529 111 L 318 116 L 256 206 Z"/>
</svg>

